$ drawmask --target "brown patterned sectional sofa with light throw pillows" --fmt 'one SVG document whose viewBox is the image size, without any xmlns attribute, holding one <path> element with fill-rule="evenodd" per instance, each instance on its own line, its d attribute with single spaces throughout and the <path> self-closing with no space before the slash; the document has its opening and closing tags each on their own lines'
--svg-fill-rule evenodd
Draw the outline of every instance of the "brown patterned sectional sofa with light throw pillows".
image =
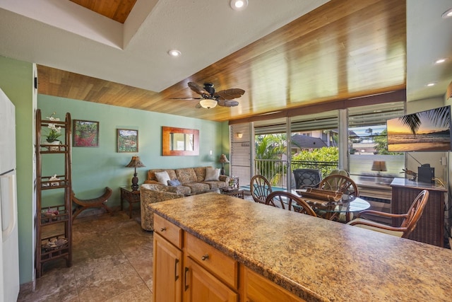
<svg viewBox="0 0 452 302">
<path fill-rule="evenodd" d="M 227 187 L 229 180 L 229 176 L 220 175 L 220 169 L 210 166 L 148 170 L 148 178 L 140 186 L 141 228 L 154 231 L 149 204 Z"/>
</svg>

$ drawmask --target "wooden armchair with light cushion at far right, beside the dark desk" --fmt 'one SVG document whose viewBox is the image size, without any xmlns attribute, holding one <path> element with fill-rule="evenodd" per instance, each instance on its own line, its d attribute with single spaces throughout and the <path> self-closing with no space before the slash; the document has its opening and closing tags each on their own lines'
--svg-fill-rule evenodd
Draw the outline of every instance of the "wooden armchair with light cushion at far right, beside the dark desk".
<svg viewBox="0 0 452 302">
<path fill-rule="evenodd" d="M 359 226 L 361 228 L 367 228 L 372 231 L 378 231 L 380 233 L 407 238 L 415 229 L 417 221 L 419 221 L 419 219 L 421 218 L 425 204 L 427 204 L 427 199 L 429 199 L 429 191 L 422 190 L 422 192 L 420 192 L 415 198 L 415 201 L 412 202 L 411 207 L 410 209 L 408 209 L 408 212 L 406 214 L 391 214 L 381 211 L 365 210 L 357 214 L 357 218 L 353 219 L 347 224 L 350 224 L 350 226 Z M 361 216 L 366 214 L 389 217 L 392 219 L 400 218 L 403 219 L 403 221 L 400 226 L 387 226 L 383 223 L 378 223 L 369 219 L 361 218 Z"/>
</svg>

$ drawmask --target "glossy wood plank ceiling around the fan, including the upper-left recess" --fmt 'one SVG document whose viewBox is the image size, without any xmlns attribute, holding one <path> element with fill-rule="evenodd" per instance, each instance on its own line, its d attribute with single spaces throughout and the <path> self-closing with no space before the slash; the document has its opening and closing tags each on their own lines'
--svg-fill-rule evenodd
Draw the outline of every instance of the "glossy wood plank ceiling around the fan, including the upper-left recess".
<svg viewBox="0 0 452 302">
<path fill-rule="evenodd" d="M 99 12 L 119 22 L 135 3 L 71 1 L 92 10 L 108 8 Z M 405 88 L 405 64 L 405 1 L 331 0 L 161 92 L 42 65 L 38 92 L 221 122 L 399 91 Z M 196 100 L 171 99 L 198 97 L 189 81 L 246 93 L 234 108 L 197 109 Z"/>
</svg>

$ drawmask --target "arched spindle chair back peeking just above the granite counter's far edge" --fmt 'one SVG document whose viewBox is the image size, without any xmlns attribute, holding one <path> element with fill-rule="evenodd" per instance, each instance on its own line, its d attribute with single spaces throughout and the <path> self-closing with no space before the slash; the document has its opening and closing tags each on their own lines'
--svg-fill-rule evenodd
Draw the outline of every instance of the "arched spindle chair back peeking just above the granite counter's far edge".
<svg viewBox="0 0 452 302">
<path fill-rule="evenodd" d="M 286 191 L 275 191 L 268 194 L 266 204 L 287 209 L 289 211 L 296 211 L 297 213 L 317 216 L 316 212 L 309 207 L 309 204 L 295 194 Z"/>
</svg>

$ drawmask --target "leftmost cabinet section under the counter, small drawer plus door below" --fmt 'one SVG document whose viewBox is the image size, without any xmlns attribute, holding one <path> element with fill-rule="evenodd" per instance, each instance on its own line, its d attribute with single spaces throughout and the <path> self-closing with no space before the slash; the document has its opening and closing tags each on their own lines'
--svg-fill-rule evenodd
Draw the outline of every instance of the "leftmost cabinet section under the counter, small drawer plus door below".
<svg viewBox="0 0 452 302">
<path fill-rule="evenodd" d="M 154 218 L 153 301 L 182 301 L 182 230 Z"/>
</svg>

